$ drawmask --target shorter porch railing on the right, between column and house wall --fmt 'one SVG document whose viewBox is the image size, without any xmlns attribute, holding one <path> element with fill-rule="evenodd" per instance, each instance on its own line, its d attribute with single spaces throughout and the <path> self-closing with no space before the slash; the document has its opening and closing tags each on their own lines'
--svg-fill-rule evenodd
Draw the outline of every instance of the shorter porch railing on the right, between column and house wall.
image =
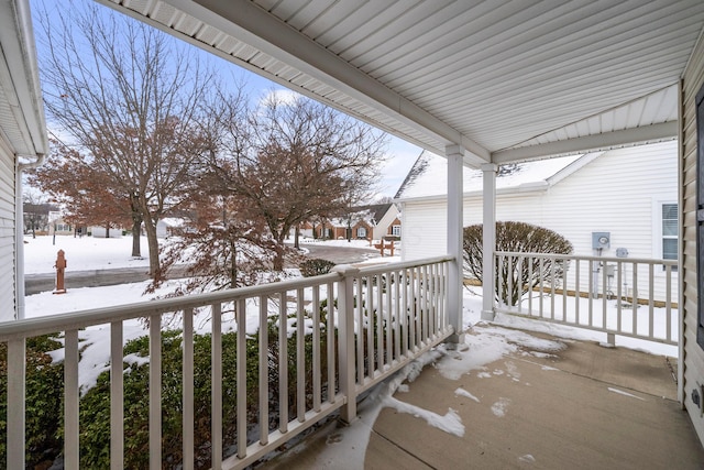
<svg viewBox="0 0 704 470">
<path fill-rule="evenodd" d="M 495 262 L 498 313 L 604 331 L 612 345 L 616 335 L 678 343 L 675 260 L 496 252 Z"/>
</svg>

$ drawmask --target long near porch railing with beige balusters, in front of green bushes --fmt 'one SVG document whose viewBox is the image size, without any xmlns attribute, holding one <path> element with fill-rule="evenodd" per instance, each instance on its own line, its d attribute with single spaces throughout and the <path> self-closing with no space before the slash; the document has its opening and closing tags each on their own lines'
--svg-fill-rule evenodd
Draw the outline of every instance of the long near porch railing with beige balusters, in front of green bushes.
<svg viewBox="0 0 704 470">
<path fill-rule="evenodd" d="M 338 266 L 316 277 L 1 325 L 0 343 L 8 351 L 8 435 L 7 462 L 0 464 L 25 467 L 25 340 L 42 335 L 64 342 L 65 468 L 81 467 L 79 411 L 86 391 L 79 386 L 79 339 L 86 329 L 109 330 L 105 348 L 110 357 L 113 469 L 129 467 L 124 437 L 129 372 L 123 363 L 128 326 L 148 325 L 145 448 L 152 469 L 162 468 L 164 442 L 170 440 L 162 427 L 167 393 L 163 374 L 173 365 L 163 357 L 168 331 L 177 331 L 183 350 L 178 368 L 183 444 L 177 452 L 183 459 L 168 464 L 193 469 L 196 460 L 205 459 L 211 468 L 244 468 L 336 411 L 352 420 L 362 392 L 452 334 L 447 311 L 451 260 L 441 256 L 361 270 Z M 204 334 L 210 337 L 211 351 L 207 416 L 195 406 L 195 381 L 201 371 L 195 367 L 194 345 Z M 196 435 L 197 419 L 210 422 L 207 438 Z"/>
</svg>

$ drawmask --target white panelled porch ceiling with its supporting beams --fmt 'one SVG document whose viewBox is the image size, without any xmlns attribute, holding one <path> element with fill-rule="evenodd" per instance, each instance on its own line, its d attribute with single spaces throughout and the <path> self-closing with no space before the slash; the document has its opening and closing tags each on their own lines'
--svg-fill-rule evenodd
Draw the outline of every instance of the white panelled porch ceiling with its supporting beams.
<svg viewBox="0 0 704 470">
<path fill-rule="evenodd" d="M 701 0 L 98 0 L 466 162 L 676 136 Z"/>
</svg>

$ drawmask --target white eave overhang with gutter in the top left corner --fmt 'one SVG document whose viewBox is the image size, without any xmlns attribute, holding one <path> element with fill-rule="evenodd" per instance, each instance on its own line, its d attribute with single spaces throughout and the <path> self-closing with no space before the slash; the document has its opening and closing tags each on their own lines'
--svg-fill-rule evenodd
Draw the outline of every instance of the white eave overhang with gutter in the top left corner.
<svg viewBox="0 0 704 470">
<path fill-rule="evenodd" d="M 48 138 L 28 0 L 0 1 L 0 83 L 25 141 L 21 156 L 44 155 Z"/>
</svg>

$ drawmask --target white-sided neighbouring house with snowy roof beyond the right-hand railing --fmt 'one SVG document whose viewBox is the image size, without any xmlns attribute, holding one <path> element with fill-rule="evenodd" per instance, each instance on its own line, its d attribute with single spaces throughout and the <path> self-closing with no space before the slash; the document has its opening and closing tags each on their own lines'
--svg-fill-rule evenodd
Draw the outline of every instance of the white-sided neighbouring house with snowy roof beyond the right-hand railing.
<svg viewBox="0 0 704 470">
<path fill-rule="evenodd" d="M 625 248 L 628 258 L 676 259 L 676 161 L 670 141 L 505 166 L 496 220 L 554 230 L 575 254 L 613 258 Z M 446 160 L 424 152 L 398 190 L 404 260 L 446 253 Z M 464 226 L 473 223 L 482 223 L 482 172 L 465 168 Z M 595 250 L 593 233 L 607 233 L 608 248 Z"/>
</svg>

